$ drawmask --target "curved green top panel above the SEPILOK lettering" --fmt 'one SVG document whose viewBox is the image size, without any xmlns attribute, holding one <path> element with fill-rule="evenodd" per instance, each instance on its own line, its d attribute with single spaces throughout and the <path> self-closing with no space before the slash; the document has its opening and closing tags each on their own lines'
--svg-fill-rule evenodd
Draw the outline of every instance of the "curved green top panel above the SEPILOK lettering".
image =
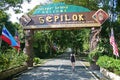
<svg viewBox="0 0 120 80">
<path fill-rule="evenodd" d="M 82 6 L 67 5 L 65 3 L 60 2 L 39 6 L 33 12 L 33 15 L 61 14 L 71 12 L 90 12 L 90 10 Z"/>
</svg>

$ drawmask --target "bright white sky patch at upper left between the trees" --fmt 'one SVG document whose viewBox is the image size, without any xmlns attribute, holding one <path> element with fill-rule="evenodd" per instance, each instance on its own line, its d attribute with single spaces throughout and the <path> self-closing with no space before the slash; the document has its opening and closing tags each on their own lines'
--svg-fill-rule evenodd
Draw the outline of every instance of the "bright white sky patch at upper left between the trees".
<svg viewBox="0 0 120 80">
<path fill-rule="evenodd" d="M 23 4 L 21 5 L 22 6 L 22 11 L 23 13 L 21 14 L 15 14 L 15 12 L 13 11 L 12 8 L 10 8 L 7 13 L 9 14 L 10 16 L 10 21 L 12 21 L 13 23 L 15 22 L 18 22 L 19 23 L 19 18 L 23 15 L 23 14 L 26 14 L 28 13 L 29 11 L 28 10 L 31 10 L 33 9 L 36 5 L 39 5 L 39 4 L 44 4 L 46 3 L 47 0 L 31 0 L 30 3 L 28 3 L 26 0 L 24 0 Z"/>
</svg>

